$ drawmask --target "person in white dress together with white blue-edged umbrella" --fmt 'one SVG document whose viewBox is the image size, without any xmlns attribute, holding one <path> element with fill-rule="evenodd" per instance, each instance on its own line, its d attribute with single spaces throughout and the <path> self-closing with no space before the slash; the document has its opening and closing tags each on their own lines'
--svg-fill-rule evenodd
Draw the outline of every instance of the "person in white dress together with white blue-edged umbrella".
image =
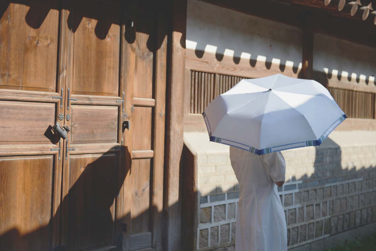
<svg viewBox="0 0 376 251">
<path fill-rule="evenodd" d="M 240 184 L 235 251 L 287 251 L 280 151 L 320 145 L 346 115 L 320 83 L 276 74 L 241 80 L 203 118 L 210 141 L 230 146 Z"/>
</svg>

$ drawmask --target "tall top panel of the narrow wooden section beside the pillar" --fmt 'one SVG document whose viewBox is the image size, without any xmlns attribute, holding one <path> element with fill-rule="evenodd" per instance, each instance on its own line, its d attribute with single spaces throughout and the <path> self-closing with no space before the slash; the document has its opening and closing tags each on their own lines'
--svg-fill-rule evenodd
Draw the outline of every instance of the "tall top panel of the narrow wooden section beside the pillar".
<svg viewBox="0 0 376 251">
<path fill-rule="evenodd" d="M 153 95 L 153 44 L 156 23 L 152 18 L 139 15 L 135 41 L 135 86 L 134 96 L 152 98 Z"/>
</svg>

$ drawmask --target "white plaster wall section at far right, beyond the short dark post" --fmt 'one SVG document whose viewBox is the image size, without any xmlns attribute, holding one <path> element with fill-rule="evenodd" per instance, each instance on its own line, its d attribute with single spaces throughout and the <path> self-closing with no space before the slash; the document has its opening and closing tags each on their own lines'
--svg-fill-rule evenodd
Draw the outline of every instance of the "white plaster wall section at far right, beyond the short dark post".
<svg viewBox="0 0 376 251">
<path fill-rule="evenodd" d="M 366 38 L 365 38 L 366 39 Z M 313 68 L 341 81 L 369 79 L 376 75 L 376 49 L 323 34 L 314 34 Z M 349 79 L 347 79 L 347 76 Z"/>
</svg>

